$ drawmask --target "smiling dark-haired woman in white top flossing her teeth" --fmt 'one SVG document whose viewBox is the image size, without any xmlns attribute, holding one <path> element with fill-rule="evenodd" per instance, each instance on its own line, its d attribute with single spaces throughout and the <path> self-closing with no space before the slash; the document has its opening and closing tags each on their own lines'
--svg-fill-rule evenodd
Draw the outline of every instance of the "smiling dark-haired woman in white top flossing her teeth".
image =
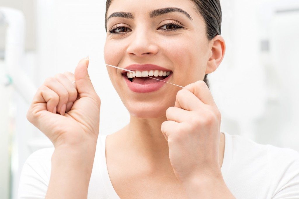
<svg viewBox="0 0 299 199">
<path fill-rule="evenodd" d="M 134 71 L 107 67 L 130 122 L 98 135 L 88 60 L 46 79 L 27 118 L 55 148 L 28 158 L 19 198 L 299 198 L 298 152 L 220 133 L 218 0 L 108 0 L 105 18 L 105 62 Z"/>
</svg>

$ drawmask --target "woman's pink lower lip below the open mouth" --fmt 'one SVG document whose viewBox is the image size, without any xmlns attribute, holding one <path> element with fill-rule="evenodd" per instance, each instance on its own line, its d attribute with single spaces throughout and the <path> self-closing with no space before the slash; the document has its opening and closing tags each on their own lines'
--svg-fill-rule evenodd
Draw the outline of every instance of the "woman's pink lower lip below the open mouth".
<svg viewBox="0 0 299 199">
<path fill-rule="evenodd" d="M 166 77 L 165 79 L 163 79 L 163 81 L 158 81 L 155 83 L 151 83 L 151 84 L 137 84 L 134 82 L 131 82 L 126 75 L 122 75 L 123 78 L 125 79 L 125 82 L 127 83 L 129 89 L 133 92 L 137 92 L 137 93 L 149 93 L 149 92 L 153 92 L 153 91 L 158 91 L 170 78 L 170 76 L 172 75 L 172 73 Z M 155 78 L 155 77 L 154 77 Z"/>
</svg>

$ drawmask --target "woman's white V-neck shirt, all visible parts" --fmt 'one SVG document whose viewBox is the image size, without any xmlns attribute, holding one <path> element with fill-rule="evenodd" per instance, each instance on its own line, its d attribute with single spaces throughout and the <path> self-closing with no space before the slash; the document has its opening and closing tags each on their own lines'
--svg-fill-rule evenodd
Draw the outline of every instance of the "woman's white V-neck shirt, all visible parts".
<svg viewBox="0 0 299 199">
<path fill-rule="evenodd" d="M 225 134 L 222 176 L 237 199 L 299 199 L 299 153 Z M 106 165 L 106 136 L 99 135 L 88 199 L 119 199 Z M 19 199 L 45 198 L 54 148 L 39 149 L 26 160 L 19 181 Z"/>
</svg>

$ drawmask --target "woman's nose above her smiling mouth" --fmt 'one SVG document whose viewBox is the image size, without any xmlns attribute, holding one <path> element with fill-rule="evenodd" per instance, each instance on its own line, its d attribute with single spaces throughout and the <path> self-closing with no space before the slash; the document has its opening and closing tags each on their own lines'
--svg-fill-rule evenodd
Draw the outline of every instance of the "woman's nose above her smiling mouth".
<svg viewBox="0 0 299 199">
<path fill-rule="evenodd" d="M 135 30 L 131 35 L 131 42 L 127 48 L 129 56 L 151 56 L 158 52 L 158 46 L 154 42 L 154 33 L 143 28 L 143 30 Z"/>
</svg>

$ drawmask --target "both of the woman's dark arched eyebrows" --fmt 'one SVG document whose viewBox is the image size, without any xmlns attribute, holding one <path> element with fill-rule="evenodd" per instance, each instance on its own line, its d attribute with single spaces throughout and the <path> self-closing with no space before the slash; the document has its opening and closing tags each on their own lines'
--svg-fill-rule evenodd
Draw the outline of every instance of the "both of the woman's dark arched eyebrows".
<svg viewBox="0 0 299 199">
<path fill-rule="evenodd" d="M 171 12 L 180 12 L 183 13 L 185 16 L 187 16 L 190 20 L 193 20 L 191 18 L 191 16 L 184 10 L 182 10 L 181 8 L 178 7 L 166 7 L 166 8 L 161 8 L 161 9 L 157 9 L 157 10 L 152 10 L 149 12 L 149 18 L 155 18 L 157 16 L 166 14 L 166 13 L 171 13 Z M 107 22 L 110 18 L 112 17 L 122 17 L 122 18 L 127 18 L 127 19 L 134 19 L 134 15 L 133 13 L 128 13 L 128 12 L 115 12 L 112 13 L 111 15 L 109 15 L 109 17 L 106 19 L 106 25 Z"/>
</svg>

